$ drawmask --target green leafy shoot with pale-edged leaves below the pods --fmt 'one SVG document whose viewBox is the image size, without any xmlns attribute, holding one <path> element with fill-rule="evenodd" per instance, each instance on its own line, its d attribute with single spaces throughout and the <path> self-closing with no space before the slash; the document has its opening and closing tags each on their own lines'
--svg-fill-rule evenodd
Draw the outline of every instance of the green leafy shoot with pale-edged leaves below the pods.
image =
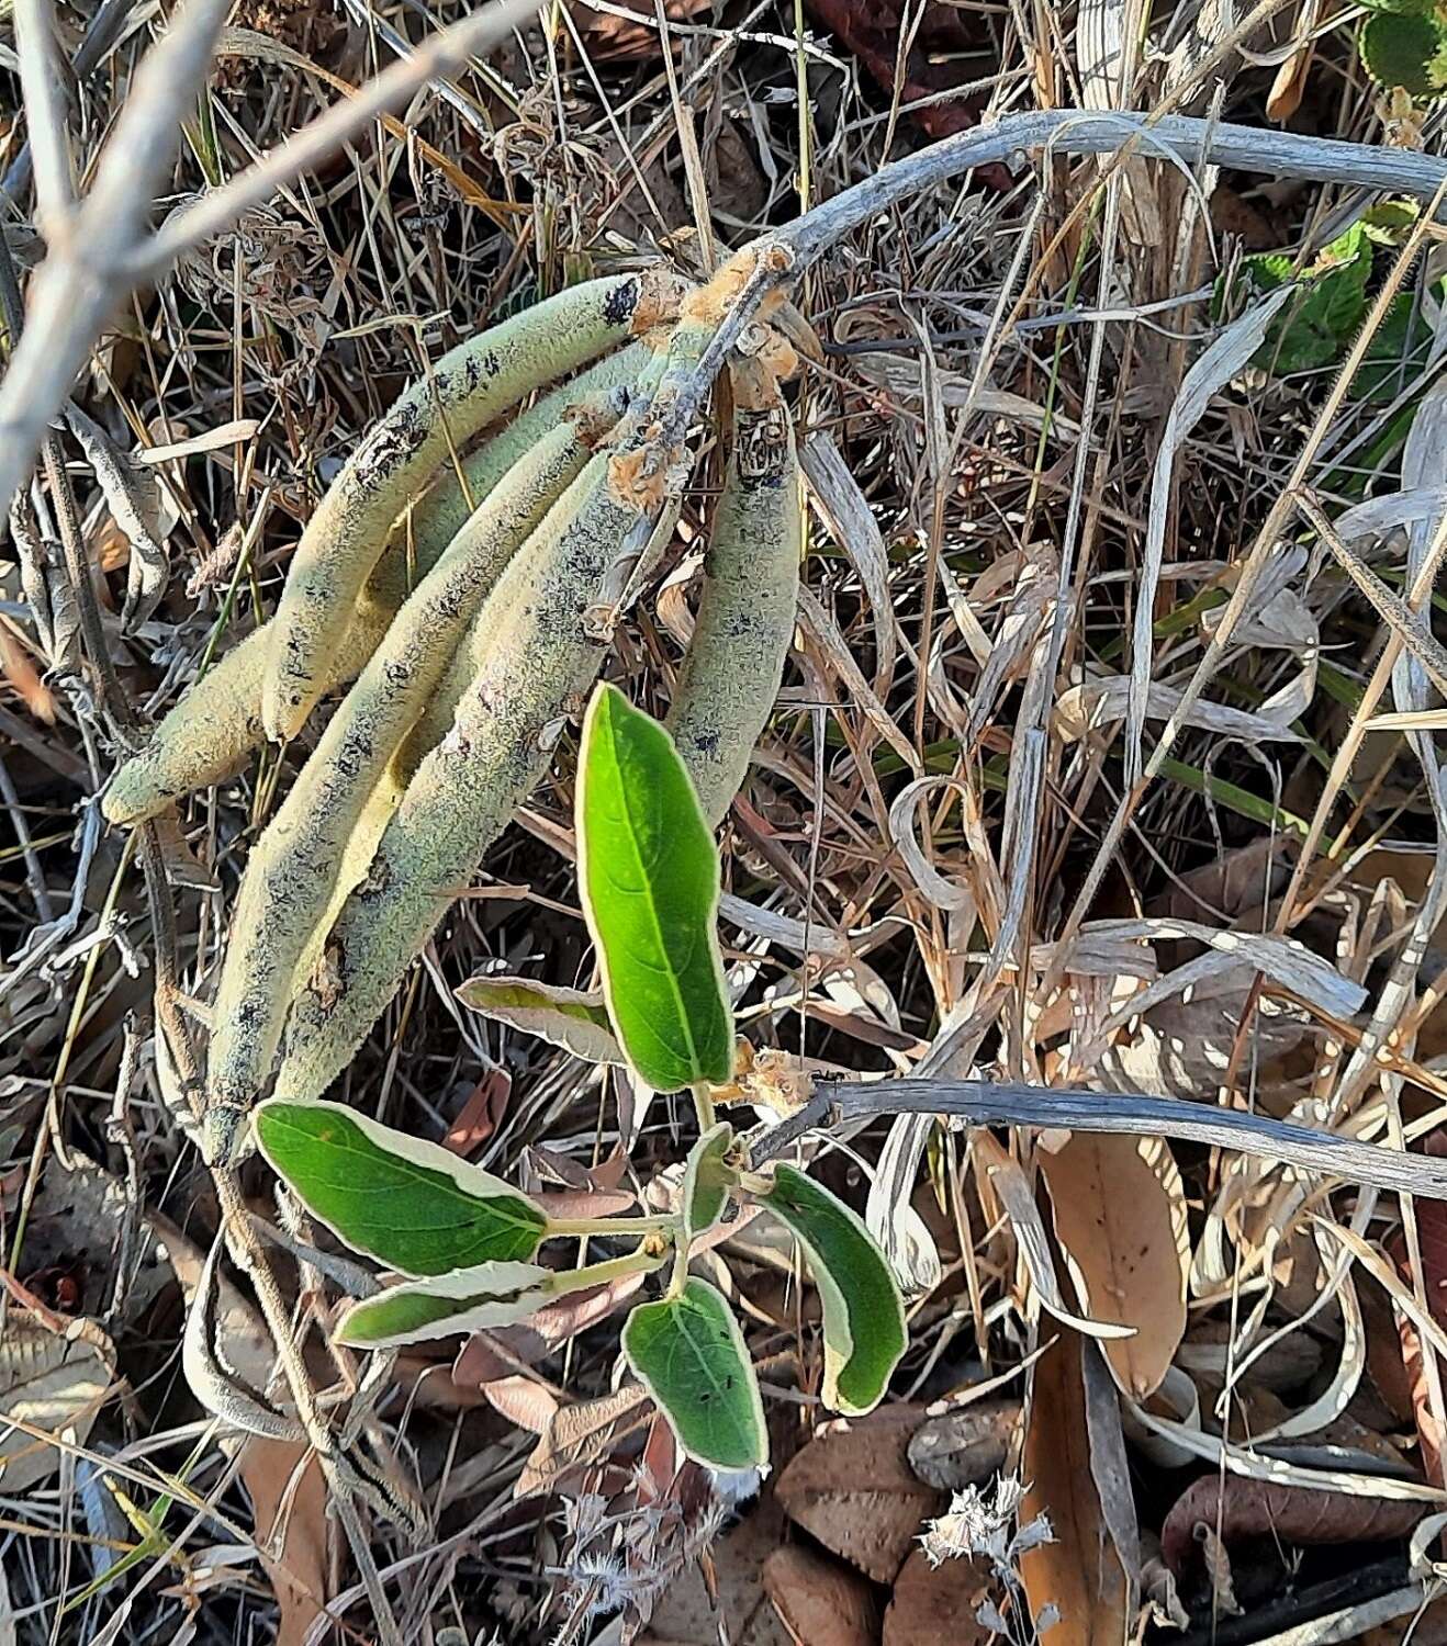
<svg viewBox="0 0 1447 1646">
<path fill-rule="evenodd" d="M 630 1312 L 622 1353 L 683 1453 L 721 1470 L 762 1468 L 769 1435 L 759 1383 L 724 1295 L 688 1272 L 693 1243 L 749 1202 L 798 1241 L 823 1304 L 825 1406 L 868 1412 L 904 1355 L 904 1305 L 859 1216 L 795 1167 L 751 1170 L 714 1098 L 734 1075 L 733 1012 L 716 922 L 718 853 L 668 732 L 601 686 L 583 724 L 579 890 L 603 993 L 479 978 L 476 1011 L 622 1063 L 662 1091 L 690 1091 L 700 1136 L 675 1211 L 555 1220 L 527 1195 L 436 1144 L 342 1104 L 270 1098 L 257 1144 L 313 1216 L 402 1276 L 342 1315 L 336 1335 L 390 1348 L 527 1320 L 568 1292 L 668 1269 L 663 1294 Z M 550 1269 L 565 1236 L 635 1236 L 632 1251 Z"/>
</svg>

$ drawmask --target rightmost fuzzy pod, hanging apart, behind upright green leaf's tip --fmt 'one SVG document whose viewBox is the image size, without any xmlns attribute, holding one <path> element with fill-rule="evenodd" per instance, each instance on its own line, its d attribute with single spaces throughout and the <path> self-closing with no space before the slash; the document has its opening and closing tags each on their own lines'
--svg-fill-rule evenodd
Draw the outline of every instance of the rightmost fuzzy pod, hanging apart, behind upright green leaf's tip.
<svg viewBox="0 0 1447 1646">
<path fill-rule="evenodd" d="M 714 828 L 739 792 L 779 695 L 803 551 L 789 410 L 772 374 L 733 375 L 733 449 L 703 561 L 693 640 L 663 721 Z"/>
</svg>

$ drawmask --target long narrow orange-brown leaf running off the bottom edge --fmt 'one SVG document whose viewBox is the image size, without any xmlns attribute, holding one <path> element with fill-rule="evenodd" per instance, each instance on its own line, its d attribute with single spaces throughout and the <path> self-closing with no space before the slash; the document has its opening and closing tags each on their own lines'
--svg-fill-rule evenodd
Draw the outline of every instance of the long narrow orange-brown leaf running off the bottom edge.
<svg viewBox="0 0 1447 1646">
<path fill-rule="evenodd" d="M 1055 1539 L 1019 1557 L 1032 1616 L 1058 1613 L 1050 1646 L 1116 1646 L 1128 1636 L 1126 1574 L 1090 1473 L 1080 1346 L 1068 1332 L 1035 1363 L 1022 1475 L 1021 1526 L 1044 1514 Z"/>
</svg>

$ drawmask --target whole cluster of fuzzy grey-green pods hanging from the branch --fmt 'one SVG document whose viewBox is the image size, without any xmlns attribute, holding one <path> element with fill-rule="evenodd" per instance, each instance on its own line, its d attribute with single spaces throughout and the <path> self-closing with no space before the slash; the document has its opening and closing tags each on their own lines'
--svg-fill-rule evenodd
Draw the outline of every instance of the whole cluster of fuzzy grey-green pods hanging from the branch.
<svg viewBox="0 0 1447 1646">
<path fill-rule="evenodd" d="M 443 356 L 323 497 L 275 617 L 117 770 L 105 815 L 140 823 L 232 777 L 263 741 L 290 741 L 349 685 L 230 909 L 206 1076 L 212 1162 L 235 1155 L 267 1090 L 306 1101 L 346 1068 L 545 775 L 626 591 L 672 538 L 688 454 L 662 449 L 668 412 L 746 273 L 729 265 L 698 288 L 662 268 L 591 280 Z M 724 486 L 668 713 L 714 823 L 793 634 L 800 484 L 779 392 L 792 364 L 774 334 L 731 359 Z"/>
</svg>

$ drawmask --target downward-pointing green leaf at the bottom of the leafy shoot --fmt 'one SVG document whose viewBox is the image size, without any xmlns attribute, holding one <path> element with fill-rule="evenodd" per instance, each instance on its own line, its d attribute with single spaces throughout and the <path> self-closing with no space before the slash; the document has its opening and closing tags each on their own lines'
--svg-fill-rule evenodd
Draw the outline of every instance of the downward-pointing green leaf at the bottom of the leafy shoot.
<svg viewBox="0 0 1447 1646">
<path fill-rule="evenodd" d="M 708 1281 L 690 1279 L 682 1297 L 639 1304 L 622 1328 L 622 1351 L 688 1457 L 713 1468 L 769 1462 L 764 1401 L 744 1337 Z"/>
</svg>

